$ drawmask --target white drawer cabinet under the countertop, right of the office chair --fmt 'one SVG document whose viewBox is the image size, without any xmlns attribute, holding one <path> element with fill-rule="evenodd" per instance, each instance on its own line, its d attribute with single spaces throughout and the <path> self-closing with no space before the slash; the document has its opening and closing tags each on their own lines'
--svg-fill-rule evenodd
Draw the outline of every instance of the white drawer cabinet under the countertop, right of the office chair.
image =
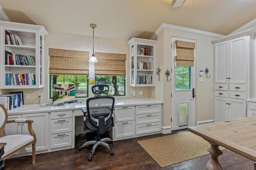
<svg viewBox="0 0 256 170">
<path fill-rule="evenodd" d="M 161 104 L 115 107 L 114 140 L 161 133 Z"/>
</svg>

